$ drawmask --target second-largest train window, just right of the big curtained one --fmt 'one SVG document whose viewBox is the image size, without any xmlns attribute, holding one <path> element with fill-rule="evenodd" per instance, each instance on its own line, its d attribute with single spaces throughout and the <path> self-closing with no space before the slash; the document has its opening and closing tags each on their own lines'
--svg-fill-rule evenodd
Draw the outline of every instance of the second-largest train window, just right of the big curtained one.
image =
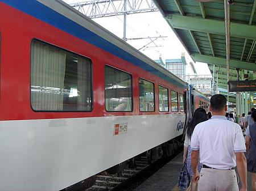
<svg viewBox="0 0 256 191">
<path fill-rule="evenodd" d="M 105 66 L 105 107 L 108 112 L 133 111 L 131 75 Z"/>
</svg>

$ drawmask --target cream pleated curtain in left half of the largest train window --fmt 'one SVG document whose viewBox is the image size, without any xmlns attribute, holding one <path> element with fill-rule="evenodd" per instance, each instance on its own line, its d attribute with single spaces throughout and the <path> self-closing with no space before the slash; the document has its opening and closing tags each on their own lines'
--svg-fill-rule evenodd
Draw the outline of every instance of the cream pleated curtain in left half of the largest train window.
<svg viewBox="0 0 256 191">
<path fill-rule="evenodd" d="M 38 41 L 31 46 L 31 104 L 40 111 L 63 111 L 64 50 Z"/>
</svg>

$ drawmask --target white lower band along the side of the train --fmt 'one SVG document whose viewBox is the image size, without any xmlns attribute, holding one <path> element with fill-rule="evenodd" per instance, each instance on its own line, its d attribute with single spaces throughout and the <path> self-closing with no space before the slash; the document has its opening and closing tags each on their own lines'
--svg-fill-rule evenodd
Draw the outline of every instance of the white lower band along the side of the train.
<svg viewBox="0 0 256 191">
<path fill-rule="evenodd" d="M 63 189 L 177 137 L 179 121 L 185 114 L 0 121 L 1 190 Z"/>
</svg>

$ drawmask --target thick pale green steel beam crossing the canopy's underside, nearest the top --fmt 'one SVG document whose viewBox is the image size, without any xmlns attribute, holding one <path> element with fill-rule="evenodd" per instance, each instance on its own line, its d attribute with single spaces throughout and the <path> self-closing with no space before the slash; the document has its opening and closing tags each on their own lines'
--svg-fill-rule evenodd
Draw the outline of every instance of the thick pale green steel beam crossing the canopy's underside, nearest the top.
<svg viewBox="0 0 256 191">
<path fill-rule="evenodd" d="M 225 36 L 225 22 L 213 19 L 203 19 L 192 16 L 167 15 L 173 28 L 191 31 L 214 33 Z M 230 35 L 242 39 L 256 39 L 256 26 L 249 24 L 230 23 Z"/>
</svg>

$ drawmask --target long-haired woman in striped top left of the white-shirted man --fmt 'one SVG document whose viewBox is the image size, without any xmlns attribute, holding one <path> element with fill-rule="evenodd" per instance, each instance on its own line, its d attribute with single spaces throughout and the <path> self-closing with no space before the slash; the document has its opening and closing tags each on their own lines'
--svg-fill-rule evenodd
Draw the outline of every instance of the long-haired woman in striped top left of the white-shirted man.
<svg viewBox="0 0 256 191">
<path fill-rule="evenodd" d="M 195 126 L 200 122 L 207 121 L 208 116 L 203 108 L 197 108 L 193 114 L 191 122 L 188 124 L 188 128 L 185 132 L 185 141 L 184 141 L 184 152 L 183 152 L 183 163 L 187 163 L 187 171 L 189 176 L 193 176 L 192 166 L 191 166 L 191 147 L 190 140 L 195 129 Z M 198 166 L 199 172 L 201 171 L 201 165 Z M 194 182 L 191 182 L 191 191 L 196 191 L 197 185 Z"/>
</svg>

